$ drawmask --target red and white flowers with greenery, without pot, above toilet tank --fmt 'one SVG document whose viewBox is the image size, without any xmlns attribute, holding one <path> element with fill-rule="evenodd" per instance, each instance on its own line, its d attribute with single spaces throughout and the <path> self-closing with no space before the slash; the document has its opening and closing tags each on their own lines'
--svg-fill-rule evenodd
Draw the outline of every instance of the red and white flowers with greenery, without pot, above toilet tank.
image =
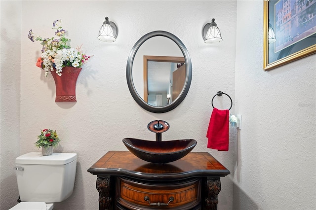
<svg viewBox="0 0 316 210">
<path fill-rule="evenodd" d="M 53 131 L 51 129 L 44 129 L 40 131 L 40 135 L 37 137 L 38 137 L 38 141 L 35 142 L 35 146 L 38 148 L 40 147 L 47 148 L 48 146 L 57 147 L 60 141 L 60 139 L 57 136 L 56 131 Z"/>
</svg>

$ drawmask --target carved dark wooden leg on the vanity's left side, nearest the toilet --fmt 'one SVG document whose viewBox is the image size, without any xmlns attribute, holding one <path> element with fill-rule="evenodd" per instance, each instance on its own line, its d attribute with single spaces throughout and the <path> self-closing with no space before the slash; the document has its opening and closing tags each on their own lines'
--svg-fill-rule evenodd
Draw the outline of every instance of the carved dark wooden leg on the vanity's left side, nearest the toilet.
<svg viewBox="0 0 316 210">
<path fill-rule="evenodd" d="M 110 176 L 98 177 L 97 190 L 99 192 L 99 210 L 112 210 L 112 197 L 110 194 Z"/>
</svg>

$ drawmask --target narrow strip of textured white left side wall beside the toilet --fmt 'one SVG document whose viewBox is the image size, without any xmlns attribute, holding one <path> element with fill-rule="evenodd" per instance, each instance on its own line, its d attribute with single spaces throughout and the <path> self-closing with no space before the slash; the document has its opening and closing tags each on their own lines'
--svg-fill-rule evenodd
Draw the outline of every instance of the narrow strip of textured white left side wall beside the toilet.
<svg viewBox="0 0 316 210">
<path fill-rule="evenodd" d="M 7 210 L 18 198 L 13 166 L 20 154 L 21 3 L 1 1 L 0 14 L 0 209 Z"/>
</svg>

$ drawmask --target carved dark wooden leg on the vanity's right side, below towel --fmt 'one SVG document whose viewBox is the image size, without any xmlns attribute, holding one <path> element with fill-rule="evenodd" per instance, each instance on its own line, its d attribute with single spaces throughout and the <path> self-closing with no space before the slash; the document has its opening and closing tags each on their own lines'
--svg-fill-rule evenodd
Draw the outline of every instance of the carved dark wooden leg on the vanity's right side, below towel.
<svg viewBox="0 0 316 210">
<path fill-rule="evenodd" d="M 221 180 L 207 177 L 206 181 L 206 193 L 205 199 L 206 210 L 217 210 L 218 199 L 217 195 L 221 191 Z"/>
</svg>

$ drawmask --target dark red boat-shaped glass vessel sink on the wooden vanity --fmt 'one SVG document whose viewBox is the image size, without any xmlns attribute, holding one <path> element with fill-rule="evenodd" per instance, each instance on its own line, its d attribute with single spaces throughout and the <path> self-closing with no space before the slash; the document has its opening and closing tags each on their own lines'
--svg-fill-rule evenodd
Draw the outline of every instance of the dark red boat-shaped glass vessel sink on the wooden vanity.
<svg viewBox="0 0 316 210">
<path fill-rule="evenodd" d="M 131 153 L 151 163 L 179 160 L 197 145 L 197 141 L 192 139 L 152 141 L 125 138 L 122 141 Z"/>
</svg>

